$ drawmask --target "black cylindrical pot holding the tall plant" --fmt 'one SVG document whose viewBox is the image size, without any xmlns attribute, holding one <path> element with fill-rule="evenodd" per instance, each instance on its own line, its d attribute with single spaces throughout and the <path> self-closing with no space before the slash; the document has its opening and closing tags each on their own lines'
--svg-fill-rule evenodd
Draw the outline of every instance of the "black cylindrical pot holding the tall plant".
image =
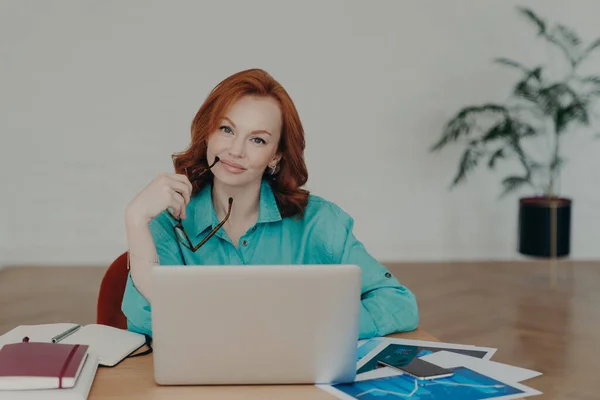
<svg viewBox="0 0 600 400">
<path fill-rule="evenodd" d="M 571 203 L 552 198 L 556 207 L 556 257 L 571 251 Z M 519 199 L 519 253 L 533 257 L 552 256 L 552 207 L 550 197 Z"/>
</svg>

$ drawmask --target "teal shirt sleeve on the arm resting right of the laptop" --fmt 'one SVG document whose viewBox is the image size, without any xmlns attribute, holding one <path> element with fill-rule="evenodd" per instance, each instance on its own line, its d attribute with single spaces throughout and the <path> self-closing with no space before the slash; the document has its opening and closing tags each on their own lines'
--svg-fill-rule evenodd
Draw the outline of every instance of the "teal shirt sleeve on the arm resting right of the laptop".
<svg viewBox="0 0 600 400">
<path fill-rule="evenodd" d="M 354 220 L 340 211 L 330 248 L 336 264 L 362 270 L 359 339 L 415 330 L 419 312 L 414 294 L 367 252 L 353 227 Z"/>
</svg>

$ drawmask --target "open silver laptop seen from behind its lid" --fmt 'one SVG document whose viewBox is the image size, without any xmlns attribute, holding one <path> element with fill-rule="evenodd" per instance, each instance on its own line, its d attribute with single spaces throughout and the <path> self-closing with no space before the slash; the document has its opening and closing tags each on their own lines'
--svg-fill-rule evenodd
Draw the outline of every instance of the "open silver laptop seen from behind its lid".
<svg viewBox="0 0 600 400">
<path fill-rule="evenodd" d="M 357 265 L 156 266 L 152 278 L 160 385 L 355 379 Z"/>
</svg>

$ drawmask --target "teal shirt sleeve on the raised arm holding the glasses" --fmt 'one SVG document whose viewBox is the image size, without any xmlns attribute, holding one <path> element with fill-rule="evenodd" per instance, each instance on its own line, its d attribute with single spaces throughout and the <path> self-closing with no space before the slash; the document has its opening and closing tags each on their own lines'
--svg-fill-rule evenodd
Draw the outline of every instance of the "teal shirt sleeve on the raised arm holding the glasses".
<svg viewBox="0 0 600 400">
<path fill-rule="evenodd" d="M 160 265 L 181 265 L 183 256 L 173 225 L 164 214 L 150 221 L 150 233 L 154 240 Z M 131 272 L 127 277 L 121 310 L 127 318 L 127 329 L 152 337 L 152 309 L 148 300 L 137 290 Z"/>
</svg>

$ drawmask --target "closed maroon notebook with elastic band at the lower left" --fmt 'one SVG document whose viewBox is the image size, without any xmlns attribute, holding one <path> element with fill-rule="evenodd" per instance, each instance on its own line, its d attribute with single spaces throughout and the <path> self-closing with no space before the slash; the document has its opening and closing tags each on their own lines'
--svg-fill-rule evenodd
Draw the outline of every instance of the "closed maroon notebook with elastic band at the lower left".
<svg viewBox="0 0 600 400">
<path fill-rule="evenodd" d="M 6 344 L 0 349 L 0 389 L 71 388 L 87 355 L 88 346 L 80 344 Z"/>
</svg>

